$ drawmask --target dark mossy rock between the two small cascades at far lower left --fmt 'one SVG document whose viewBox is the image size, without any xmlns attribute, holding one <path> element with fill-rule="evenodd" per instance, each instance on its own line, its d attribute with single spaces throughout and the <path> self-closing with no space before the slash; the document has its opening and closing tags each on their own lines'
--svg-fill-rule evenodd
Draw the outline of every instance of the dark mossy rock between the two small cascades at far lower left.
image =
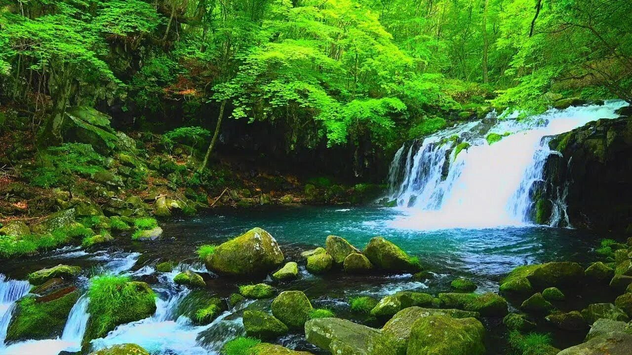
<svg viewBox="0 0 632 355">
<path fill-rule="evenodd" d="M 78 298 L 76 287 L 66 287 L 42 298 L 21 299 L 9 323 L 6 341 L 61 337 Z"/>
</svg>

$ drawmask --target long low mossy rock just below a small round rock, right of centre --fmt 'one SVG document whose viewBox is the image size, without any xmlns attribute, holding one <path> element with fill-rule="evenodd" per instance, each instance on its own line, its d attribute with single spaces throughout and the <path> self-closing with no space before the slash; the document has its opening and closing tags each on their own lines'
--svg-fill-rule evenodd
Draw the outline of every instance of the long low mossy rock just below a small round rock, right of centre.
<svg viewBox="0 0 632 355">
<path fill-rule="evenodd" d="M 441 306 L 459 310 L 478 312 L 483 316 L 504 316 L 507 314 L 507 301 L 494 292 L 440 293 Z"/>
</svg>

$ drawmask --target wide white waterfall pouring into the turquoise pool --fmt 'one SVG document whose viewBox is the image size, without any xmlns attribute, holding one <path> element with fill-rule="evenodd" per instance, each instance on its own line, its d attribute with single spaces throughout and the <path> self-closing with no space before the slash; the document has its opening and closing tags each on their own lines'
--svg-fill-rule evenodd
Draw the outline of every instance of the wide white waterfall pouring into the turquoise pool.
<svg viewBox="0 0 632 355">
<path fill-rule="evenodd" d="M 625 105 L 550 109 L 518 121 L 517 114 L 489 127 L 483 121 L 459 124 L 435 135 L 407 142 L 396 153 L 389 175 L 389 198 L 406 212 L 392 226 L 406 229 L 485 228 L 532 224 L 533 184 L 542 181 L 550 154 L 550 135 L 558 135 L 600 118 L 615 118 Z M 488 129 L 489 128 L 489 129 Z M 497 133 L 500 141 L 485 137 Z M 458 142 L 466 147 L 458 152 Z M 550 223 L 565 220 L 564 186 L 559 187 Z M 568 186 L 566 186 L 568 188 Z"/>
</svg>

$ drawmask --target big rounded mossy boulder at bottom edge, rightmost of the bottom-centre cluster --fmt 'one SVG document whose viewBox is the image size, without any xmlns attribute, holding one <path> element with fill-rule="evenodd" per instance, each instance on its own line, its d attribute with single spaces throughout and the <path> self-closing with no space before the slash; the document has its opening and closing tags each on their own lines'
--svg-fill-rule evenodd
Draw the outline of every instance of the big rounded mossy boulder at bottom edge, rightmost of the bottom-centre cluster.
<svg viewBox="0 0 632 355">
<path fill-rule="evenodd" d="M 475 318 L 431 315 L 411 328 L 407 355 L 483 355 L 485 328 Z"/>
</svg>

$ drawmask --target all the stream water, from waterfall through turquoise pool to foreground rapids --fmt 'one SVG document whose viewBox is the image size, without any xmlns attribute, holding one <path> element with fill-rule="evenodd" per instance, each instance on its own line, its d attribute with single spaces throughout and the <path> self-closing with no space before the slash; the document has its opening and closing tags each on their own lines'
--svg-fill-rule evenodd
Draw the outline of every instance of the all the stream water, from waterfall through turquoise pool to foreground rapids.
<svg viewBox="0 0 632 355">
<path fill-rule="evenodd" d="M 214 322 L 198 326 L 186 316 L 199 299 L 226 298 L 238 290 L 239 280 L 207 272 L 195 250 L 202 244 L 219 244 L 258 226 L 269 231 L 281 244 L 288 260 L 301 260 L 300 252 L 322 246 L 329 234 L 343 236 L 358 248 L 380 235 L 393 241 L 435 274 L 427 280 L 413 280 L 410 274 L 346 275 L 343 272 L 315 276 L 300 266 L 298 280 L 282 289 L 304 291 L 315 307 L 334 310 L 343 318 L 357 318 L 349 310 L 349 298 L 369 295 L 380 298 L 402 290 L 437 294 L 450 291 L 449 282 L 463 275 L 477 282 L 477 292 L 497 291 L 499 280 L 514 267 L 556 260 L 585 262 L 593 258 L 597 238 L 623 236 L 569 228 L 536 226 L 528 219 L 532 201 L 529 191 L 542 179 L 542 165 L 551 151 L 548 135 L 568 131 L 592 119 L 614 117 L 620 102 L 604 106 L 576 107 L 550 111 L 529 123 L 513 119 L 490 123 L 472 122 L 406 143 L 391 166 L 389 197 L 398 207 L 265 207 L 247 210 L 212 210 L 186 220 L 164 224 L 164 239 L 132 242 L 118 236 L 116 247 L 84 251 L 66 247 L 0 265 L 0 355 L 57 355 L 78 351 L 88 322 L 87 296 L 82 296 L 68 316 L 58 339 L 27 340 L 4 344 L 15 301 L 30 289 L 29 272 L 58 263 L 79 265 L 90 272 L 127 275 L 148 282 L 157 294 L 155 314 L 138 322 L 117 327 L 92 349 L 133 342 L 152 354 L 215 355 L 223 344 L 244 333 L 243 308 L 269 310 L 270 300 L 249 301 L 224 312 Z M 490 117 L 493 118 L 493 117 Z M 485 126 L 487 125 L 487 126 Z M 485 126 L 481 128 L 482 126 Z M 481 131 L 511 133 L 493 145 Z M 470 142 L 456 158 L 444 138 L 457 135 Z M 446 165 L 446 162 L 449 163 Z M 554 219 L 564 220 L 566 186 L 559 186 Z M 572 221 L 570 221 L 572 224 Z M 161 273 L 155 265 L 164 260 L 178 263 L 173 272 Z M 200 272 L 207 283 L 204 291 L 191 291 L 173 282 L 183 270 Z M 11 279 L 9 279 L 11 277 Z M 262 282 L 257 280 L 257 282 Z M 243 282 L 243 281 L 242 281 Z M 85 291 L 88 281 L 78 280 Z M 356 318 L 354 318 L 356 317 Z M 497 321 L 486 322 L 492 337 Z M 500 338 L 491 341 L 489 354 L 504 354 Z M 293 349 L 322 353 L 303 336 L 292 333 L 276 342 Z M 562 344 L 563 345 L 563 344 Z"/>
</svg>

